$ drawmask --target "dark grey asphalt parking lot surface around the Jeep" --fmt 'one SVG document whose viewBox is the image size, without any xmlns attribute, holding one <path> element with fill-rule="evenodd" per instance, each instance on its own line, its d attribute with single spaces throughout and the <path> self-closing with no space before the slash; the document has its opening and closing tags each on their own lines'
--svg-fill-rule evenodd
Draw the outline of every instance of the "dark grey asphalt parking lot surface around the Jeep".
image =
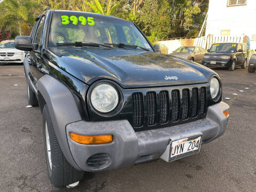
<svg viewBox="0 0 256 192">
<path fill-rule="evenodd" d="M 256 73 L 216 71 L 230 105 L 221 138 L 173 163 L 89 173 L 77 188 L 57 189 L 47 178 L 41 111 L 26 108 L 23 66 L 0 65 L 0 191 L 256 191 Z"/>
</svg>

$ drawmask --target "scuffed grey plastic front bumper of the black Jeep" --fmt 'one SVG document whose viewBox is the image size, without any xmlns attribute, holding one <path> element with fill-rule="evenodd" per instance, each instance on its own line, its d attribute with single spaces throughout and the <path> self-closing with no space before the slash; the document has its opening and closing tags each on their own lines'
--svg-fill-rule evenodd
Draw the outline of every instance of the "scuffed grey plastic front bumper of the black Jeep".
<svg viewBox="0 0 256 192">
<path fill-rule="evenodd" d="M 166 150 L 170 140 L 186 138 L 193 133 L 202 134 L 202 143 L 220 137 L 225 131 L 228 118 L 223 115 L 229 106 L 220 102 L 210 106 L 207 116 L 198 121 L 165 127 L 162 129 L 134 132 L 126 121 L 85 122 L 78 121 L 66 126 L 69 150 L 77 166 L 84 171 L 100 171 L 129 166 L 135 163 L 159 158 Z M 112 134 L 111 143 L 100 145 L 83 145 L 70 138 L 70 132 L 81 135 Z M 87 159 L 95 154 L 108 154 L 111 158 L 103 167 L 87 165 Z M 70 161 L 69 161 L 70 162 Z"/>
</svg>

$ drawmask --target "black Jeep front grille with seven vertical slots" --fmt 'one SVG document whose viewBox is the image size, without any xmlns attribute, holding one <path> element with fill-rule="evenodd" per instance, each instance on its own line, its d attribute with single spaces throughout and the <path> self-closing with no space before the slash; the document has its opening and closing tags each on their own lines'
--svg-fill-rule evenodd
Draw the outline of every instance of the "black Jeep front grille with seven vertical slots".
<svg viewBox="0 0 256 192">
<path fill-rule="evenodd" d="M 178 123 L 206 113 L 206 87 L 132 94 L 133 127 Z"/>
</svg>

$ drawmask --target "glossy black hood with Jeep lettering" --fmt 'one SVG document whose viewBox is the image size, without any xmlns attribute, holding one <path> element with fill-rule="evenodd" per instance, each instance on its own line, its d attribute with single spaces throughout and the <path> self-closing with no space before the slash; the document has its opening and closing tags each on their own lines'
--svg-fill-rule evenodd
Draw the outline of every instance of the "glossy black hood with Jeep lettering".
<svg viewBox="0 0 256 192">
<path fill-rule="evenodd" d="M 206 83 L 214 73 L 197 63 L 157 52 L 58 47 L 46 50 L 44 56 L 89 85 L 99 79 L 113 80 L 124 88 Z"/>
</svg>

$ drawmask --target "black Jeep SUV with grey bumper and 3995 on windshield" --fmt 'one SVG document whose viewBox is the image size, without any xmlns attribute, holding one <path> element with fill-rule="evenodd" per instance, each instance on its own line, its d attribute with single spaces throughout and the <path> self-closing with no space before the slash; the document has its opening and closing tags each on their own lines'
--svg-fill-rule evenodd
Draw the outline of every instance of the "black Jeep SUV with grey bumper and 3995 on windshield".
<svg viewBox="0 0 256 192">
<path fill-rule="evenodd" d="M 56 187 L 76 186 L 83 171 L 199 153 L 226 130 L 218 74 L 156 52 L 131 21 L 46 9 L 15 47 L 30 52 L 28 102 L 43 114 Z"/>
</svg>

